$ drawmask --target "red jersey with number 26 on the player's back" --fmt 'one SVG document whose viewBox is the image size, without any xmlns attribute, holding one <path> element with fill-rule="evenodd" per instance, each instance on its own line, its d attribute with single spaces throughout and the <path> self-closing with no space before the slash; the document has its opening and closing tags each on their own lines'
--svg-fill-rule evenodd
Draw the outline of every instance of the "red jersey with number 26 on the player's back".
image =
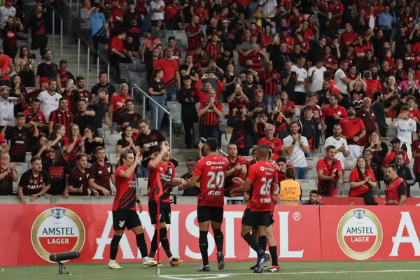
<svg viewBox="0 0 420 280">
<path fill-rule="evenodd" d="M 260 161 L 249 168 L 246 180 L 251 181 L 252 196 L 248 206 L 251 211 L 272 211 L 274 186 L 277 183 L 276 168 L 271 162 Z"/>
</svg>

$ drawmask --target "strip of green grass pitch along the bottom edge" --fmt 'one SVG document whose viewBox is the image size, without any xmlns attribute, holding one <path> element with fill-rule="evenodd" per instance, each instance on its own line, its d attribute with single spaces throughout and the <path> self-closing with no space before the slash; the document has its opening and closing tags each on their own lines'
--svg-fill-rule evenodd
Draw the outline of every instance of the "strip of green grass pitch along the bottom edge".
<svg viewBox="0 0 420 280">
<path fill-rule="evenodd" d="M 197 272 L 197 262 L 179 267 L 163 263 L 160 276 L 155 268 L 144 269 L 141 262 L 120 263 L 123 269 L 112 270 L 104 264 L 66 264 L 67 275 L 57 275 L 57 265 L 38 267 L 0 267 L 1 280 L 76 279 L 76 280 L 414 280 L 420 279 L 419 262 L 280 262 L 281 272 L 254 274 L 254 262 L 226 262 L 224 270 L 211 263 L 211 272 Z"/>
</svg>

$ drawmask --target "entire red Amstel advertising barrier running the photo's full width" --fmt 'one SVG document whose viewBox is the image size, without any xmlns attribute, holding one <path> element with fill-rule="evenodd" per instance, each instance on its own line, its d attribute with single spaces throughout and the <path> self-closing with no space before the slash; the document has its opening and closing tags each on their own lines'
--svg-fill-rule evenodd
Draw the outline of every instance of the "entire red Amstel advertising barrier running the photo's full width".
<svg viewBox="0 0 420 280">
<path fill-rule="evenodd" d="M 225 260 L 255 260 L 241 238 L 244 205 L 225 206 Z M 139 214 L 150 246 L 154 228 L 147 207 Z M 172 253 L 200 261 L 197 207 L 173 205 L 168 236 Z M 113 236 L 108 204 L 4 204 L 0 216 L 0 266 L 44 265 L 50 253 L 80 251 L 72 262 L 107 262 Z M 420 208 L 276 206 L 274 238 L 280 261 L 420 260 Z M 209 256 L 216 248 L 209 233 Z M 134 233 L 120 242 L 118 261 L 139 261 Z"/>
</svg>

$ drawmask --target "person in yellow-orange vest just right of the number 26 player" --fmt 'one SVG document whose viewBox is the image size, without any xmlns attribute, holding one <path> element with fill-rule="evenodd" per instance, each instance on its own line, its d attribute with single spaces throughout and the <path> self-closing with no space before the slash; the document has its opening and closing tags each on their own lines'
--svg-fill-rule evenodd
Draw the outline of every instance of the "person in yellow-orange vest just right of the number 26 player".
<svg viewBox="0 0 420 280">
<path fill-rule="evenodd" d="M 293 178 L 295 178 L 295 169 L 288 167 L 286 169 L 286 180 L 280 183 L 280 204 L 299 204 L 302 199 L 302 188 Z"/>
</svg>

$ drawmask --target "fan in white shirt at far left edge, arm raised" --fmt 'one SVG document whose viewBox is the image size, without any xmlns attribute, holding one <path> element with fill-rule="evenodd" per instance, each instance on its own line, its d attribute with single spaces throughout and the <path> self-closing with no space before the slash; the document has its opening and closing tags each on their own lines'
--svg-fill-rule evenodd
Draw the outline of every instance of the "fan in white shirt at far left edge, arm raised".
<svg viewBox="0 0 420 280">
<path fill-rule="evenodd" d="M 3 85 L 0 87 L 0 126 L 15 126 L 15 105 L 25 102 L 25 97 L 19 92 L 15 92 L 18 97 L 9 97 L 10 87 Z"/>
</svg>

